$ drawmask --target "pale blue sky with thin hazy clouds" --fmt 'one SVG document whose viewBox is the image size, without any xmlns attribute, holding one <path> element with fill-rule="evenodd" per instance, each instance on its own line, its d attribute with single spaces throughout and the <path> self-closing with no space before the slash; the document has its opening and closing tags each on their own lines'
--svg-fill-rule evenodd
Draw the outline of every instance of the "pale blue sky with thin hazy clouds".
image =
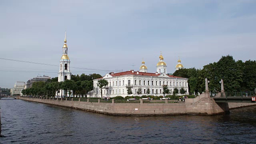
<svg viewBox="0 0 256 144">
<path fill-rule="evenodd" d="M 255 26 L 256 0 L 0 0 L 0 87 L 57 77 L 65 30 L 72 74 L 104 76 L 255 60 Z"/>
</svg>

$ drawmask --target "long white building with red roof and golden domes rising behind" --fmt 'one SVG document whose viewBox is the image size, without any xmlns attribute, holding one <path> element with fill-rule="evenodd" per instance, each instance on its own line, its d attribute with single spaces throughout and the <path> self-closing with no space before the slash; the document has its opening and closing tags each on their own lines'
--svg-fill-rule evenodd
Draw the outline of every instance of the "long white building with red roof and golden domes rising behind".
<svg viewBox="0 0 256 144">
<path fill-rule="evenodd" d="M 176 65 L 176 70 L 184 68 L 180 63 L 180 59 L 178 60 L 178 64 Z M 127 89 L 132 89 L 131 96 L 138 96 L 137 90 L 138 88 L 142 88 L 142 95 L 147 95 L 146 91 L 150 89 L 150 95 L 156 96 L 164 96 L 163 94 L 163 86 L 167 86 L 172 94 L 174 88 L 184 88 L 186 93 L 188 94 L 188 78 L 181 78 L 178 76 L 172 76 L 167 74 L 167 65 L 164 62 L 164 57 L 162 54 L 159 56 L 159 62 L 156 64 L 156 72 L 148 73 L 148 68 L 145 65 L 144 60 L 142 60 L 142 66 L 140 66 L 139 71 L 126 71 L 119 73 L 109 73 L 106 74 L 103 79 L 108 81 L 108 86 L 102 89 L 102 95 L 108 97 L 114 96 L 128 96 Z M 101 97 L 100 88 L 97 86 L 98 80 L 93 80 L 94 88 L 92 97 Z M 89 97 L 89 96 L 88 96 Z"/>
</svg>

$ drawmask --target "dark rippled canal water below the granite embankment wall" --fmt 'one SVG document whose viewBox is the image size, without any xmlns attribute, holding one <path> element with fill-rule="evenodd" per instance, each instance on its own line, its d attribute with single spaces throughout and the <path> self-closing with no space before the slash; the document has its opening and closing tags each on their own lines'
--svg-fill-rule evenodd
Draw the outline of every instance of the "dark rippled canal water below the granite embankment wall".
<svg viewBox="0 0 256 144">
<path fill-rule="evenodd" d="M 253 144 L 256 106 L 218 116 L 108 116 L 0 100 L 1 144 Z"/>
</svg>

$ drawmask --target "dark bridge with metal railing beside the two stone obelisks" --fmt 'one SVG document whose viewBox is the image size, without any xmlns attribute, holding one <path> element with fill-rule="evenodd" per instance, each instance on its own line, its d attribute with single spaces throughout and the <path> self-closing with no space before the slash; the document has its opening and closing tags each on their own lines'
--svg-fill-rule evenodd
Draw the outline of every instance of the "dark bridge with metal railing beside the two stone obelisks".
<svg viewBox="0 0 256 144">
<path fill-rule="evenodd" d="M 210 96 L 218 102 L 245 102 L 256 103 L 255 92 L 219 92 L 217 94 L 210 94 Z"/>
</svg>

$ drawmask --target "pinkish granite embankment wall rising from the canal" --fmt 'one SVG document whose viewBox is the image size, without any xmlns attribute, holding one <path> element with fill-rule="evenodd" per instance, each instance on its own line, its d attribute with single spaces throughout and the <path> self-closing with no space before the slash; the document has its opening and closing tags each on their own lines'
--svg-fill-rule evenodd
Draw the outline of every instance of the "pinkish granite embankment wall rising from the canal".
<svg viewBox="0 0 256 144">
<path fill-rule="evenodd" d="M 168 103 L 167 100 L 165 100 L 165 103 L 143 103 L 142 100 L 140 103 L 115 103 L 114 100 L 112 100 L 112 103 L 102 103 L 26 97 L 20 97 L 20 99 L 99 112 L 102 114 L 140 116 L 177 114 L 215 115 L 229 113 L 229 108 L 255 105 L 251 103 L 216 103 L 210 98 L 208 93 L 203 93 L 196 98 L 188 98 L 186 99 L 186 103 Z"/>
</svg>

